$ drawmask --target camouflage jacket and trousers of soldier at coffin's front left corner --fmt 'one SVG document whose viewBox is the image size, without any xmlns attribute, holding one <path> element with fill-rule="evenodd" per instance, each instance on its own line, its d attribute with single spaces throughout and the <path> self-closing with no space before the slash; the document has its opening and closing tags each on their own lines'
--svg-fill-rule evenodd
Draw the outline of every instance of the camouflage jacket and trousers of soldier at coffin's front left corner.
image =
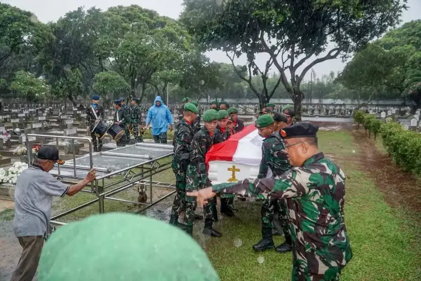
<svg viewBox="0 0 421 281">
<path fill-rule="evenodd" d="M 213 144 L 213 136 L 208 132 L 206 127 L 201 128 L 192 140 L 190 146 L 190 163 L 187 167 L 186 174 L 186 191 L 198 190 L 211 186 L 208 178 L 208 170 L 205 164 L 205 156 Z M 185 217 L 184 221 L 188 226 L 193 226 L 195 220 L 194 212 L 196 210 L 196 198 L 186 196 L 185 200 Z M 215 208 L 215 198 L 208 200 L 208 204 L 204 206 L 205 227 L 207 223 L 211 224 L 213 220 L 212 210 Z"/>
</svg>

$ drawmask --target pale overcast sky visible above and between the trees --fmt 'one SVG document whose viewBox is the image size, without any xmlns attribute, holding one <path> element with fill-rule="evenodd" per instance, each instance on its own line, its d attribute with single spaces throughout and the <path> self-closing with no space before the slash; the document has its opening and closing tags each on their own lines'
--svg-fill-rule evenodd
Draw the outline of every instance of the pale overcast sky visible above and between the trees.
<svg viewBox="0 0 421 281">
<path fill-rule="evenodd" d="M 110 6 L 137 4 L 144 8 L 156 10 L 160 15 L 171 18 L 178 18 L 183 0 L 2 0 L 24 10 L 35 13 L 42 22 L 56 21 L 59 17 L 64 16 L 68 11 L 75 10 L 79 6 L 90 8 L 96 6 L 106 10 Z M 410 8 L 403 13 L 403 22 L 408 22 L 421 18 L 421 0 L 408 0 Z M 222 52 L 212 51 L 207 54 L 212 60 L 219 62 L 231 63 L 230 60 Z M 260 67 L 264 67 L 267 57 L 262 55 L 257 58 Z M 235 60 L 236 64 L 245 64 L 244 57 Z M 305 67 L 306 65 L 303 65 Z M 344 63 L 338 59 L 331 59 L 319 63 L 314 67 L 317 77 L 322 74 L 328 74 L 330 71 L 340 71 L 344 67 Z M 302 69 L 302 68 L 301 68 Z M 273 71 L 275 69 L 273 68 Z M 300 70 L 300 69 L 299 69 Z M 310 71 L 307 74 L 310 79 Z"/>
</svg>

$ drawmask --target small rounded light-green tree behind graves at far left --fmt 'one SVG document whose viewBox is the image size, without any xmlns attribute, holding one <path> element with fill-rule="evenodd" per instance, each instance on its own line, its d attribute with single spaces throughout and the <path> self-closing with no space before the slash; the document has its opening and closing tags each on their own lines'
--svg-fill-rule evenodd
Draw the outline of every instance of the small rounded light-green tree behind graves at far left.
<svg viewBox="0 0 421 281">
<path fill-rule="evenodd" d="M 33 73 L 23 70 L 15 73 L 9 88 L 28 102 L 42 100 L 51 91 L 51 86 L 44 77 L 36 77 Z"/>
</svg>

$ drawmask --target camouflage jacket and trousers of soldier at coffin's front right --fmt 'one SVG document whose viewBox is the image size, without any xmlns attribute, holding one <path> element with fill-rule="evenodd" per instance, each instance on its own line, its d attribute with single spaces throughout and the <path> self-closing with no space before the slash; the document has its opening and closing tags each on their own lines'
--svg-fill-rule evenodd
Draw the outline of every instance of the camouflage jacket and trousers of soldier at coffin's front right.
<svg viewBox="0 0 421 281">
<path fill-rule="evenodd" d="M 271 133 L 263 140 L 262 145 L 262 161 L 260 163 L 258 178 L 265 178 L 270 168 L 273 176 L 279 176 L 291 169 L 287 155 L 283 152 L 285 146 L 279 132 Z M 262 236 L 263 239 L 269 239 L 272 243 L 273 214 L 279 211 L 279 221 L 282 231 L 285 235 L 285 241 L 291 244 L 291 236 L 289 234 L 288 214 L 285 200 L 266 199 L 263 201 L 262 213 Z M 272 243 L 273 245 L 273 243 Z"/>
</svg>

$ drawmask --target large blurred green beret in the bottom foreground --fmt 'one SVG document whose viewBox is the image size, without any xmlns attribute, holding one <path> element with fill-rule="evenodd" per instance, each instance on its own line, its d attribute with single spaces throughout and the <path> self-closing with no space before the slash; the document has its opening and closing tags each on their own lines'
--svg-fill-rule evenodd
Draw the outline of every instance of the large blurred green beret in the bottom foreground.
<svg viewBox="0 0 421 281">
<path fill-rule="evenodd" d="M 184 231 L 123 213 L 60 226 L 44 245 L 37 280 L 220 281 L 206 253 Z"/>
</svg>

